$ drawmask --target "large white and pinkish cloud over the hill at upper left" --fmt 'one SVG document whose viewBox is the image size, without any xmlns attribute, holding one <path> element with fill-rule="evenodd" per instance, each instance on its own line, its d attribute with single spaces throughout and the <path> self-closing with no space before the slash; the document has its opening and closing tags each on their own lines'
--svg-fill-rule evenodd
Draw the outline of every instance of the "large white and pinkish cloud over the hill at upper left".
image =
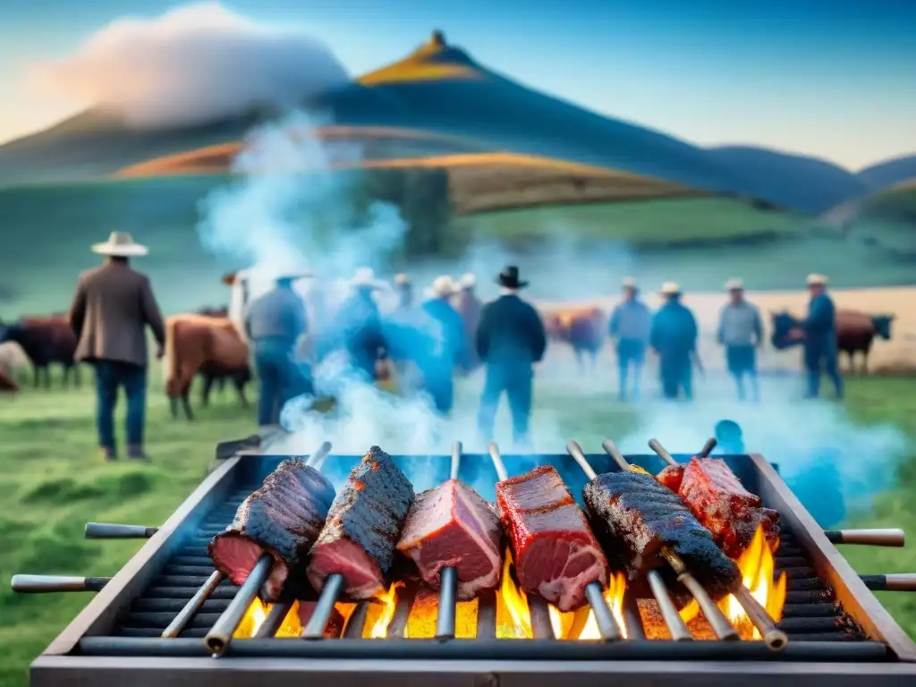
<svg viewBox="0 0 916 687">
<path fill-rule="evenodd" d="M 39 65 L 34 78 L 137 128 L 206 124 L 262 106 L 287 110 L 349 80 L 320 41 L 217 3 L 118 19 L 70 57 Z"/>
</svg>

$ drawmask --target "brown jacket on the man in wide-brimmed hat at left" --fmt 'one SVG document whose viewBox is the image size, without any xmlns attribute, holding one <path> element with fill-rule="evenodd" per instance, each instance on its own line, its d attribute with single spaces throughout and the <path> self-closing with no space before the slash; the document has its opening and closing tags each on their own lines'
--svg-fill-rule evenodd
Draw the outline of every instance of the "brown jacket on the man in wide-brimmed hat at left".
<svg viewBox="0 0 916 687">
<path fill-rule="evenodd" d="M 146 275 L 105 262 L 80 275 L 70 309 L 76 359 L 147 365 L 147 326 L 165 346 L 165 325 Z"/>
</svg>

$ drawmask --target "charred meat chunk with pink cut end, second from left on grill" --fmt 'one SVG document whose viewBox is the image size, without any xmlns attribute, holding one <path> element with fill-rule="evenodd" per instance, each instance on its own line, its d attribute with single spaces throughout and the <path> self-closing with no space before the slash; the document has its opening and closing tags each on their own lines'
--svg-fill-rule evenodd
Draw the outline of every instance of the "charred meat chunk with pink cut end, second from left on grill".
<svg viewBox="0 0 916 687">
<path fill-rule="evenodd" d="M 344 575 L 351 599 L 384 591 L 385 575 L 410 504 L 413 486 L 377 446 L 369 449 L 334 499 L 306 571 L 317 591 L 333 573 Z"/>
</svg>

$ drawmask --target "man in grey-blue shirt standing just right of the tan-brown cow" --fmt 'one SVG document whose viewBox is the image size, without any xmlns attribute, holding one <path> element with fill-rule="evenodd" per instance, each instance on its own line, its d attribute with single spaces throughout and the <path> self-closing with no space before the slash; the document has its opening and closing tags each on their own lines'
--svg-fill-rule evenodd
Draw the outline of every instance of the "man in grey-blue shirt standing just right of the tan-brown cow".
<svg viewBox="0 0 916 687">
<path fill-rule="evenodd" d="M 293 359 L 308 327 L 305 303 L 293 290 L 293 280 L 277 278 L 274 289 L 251 301 L 245 311 L 245 333 L 255 352 L 261 427 L 279 424 L 289 398 L 311 390 Z"/>
</svg>

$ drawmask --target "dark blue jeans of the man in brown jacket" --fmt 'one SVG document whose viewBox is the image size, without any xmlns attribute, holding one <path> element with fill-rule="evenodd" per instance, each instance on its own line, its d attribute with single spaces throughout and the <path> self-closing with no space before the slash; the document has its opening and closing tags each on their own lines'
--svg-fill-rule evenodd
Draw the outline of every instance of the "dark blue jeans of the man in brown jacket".
<svg viewBox="0 0 916 687">
<path fill-rule="evenodd" d="M 124 387 L 127 397 L 127 445 L 142 446 L 147 414 L 147 367 L 115 360 L 97 360 L 93 366 L 99 446 L 114 451 L 114 407 L 119 387 Z"/>
</svg>

